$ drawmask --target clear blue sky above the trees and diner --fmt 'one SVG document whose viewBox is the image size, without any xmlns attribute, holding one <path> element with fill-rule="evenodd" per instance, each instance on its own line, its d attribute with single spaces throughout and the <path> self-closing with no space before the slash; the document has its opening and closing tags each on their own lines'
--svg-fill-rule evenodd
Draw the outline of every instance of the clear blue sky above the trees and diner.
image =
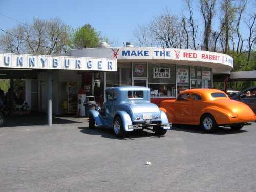
<svg viewBox="0 0 256 192">
<path fill-rule="evenodd" d="M 193 7 L 198 9 L 196 3 Z M 109 38 L 117 46 L 122 46 L 123 42 L 134 42 L 133 30 L 136 25 L 148 23 L 166 8 L 177 15 L 185 12 L 182 0 L 0 0 L 0 28 L 4 30 L 12 28 L 18 24 L 16 20 L 31 23 L 35 17 L 40 19 L 58 17 L 72 28 L 90 23 L 101 31 L 102 36 Z M 194 16 L 197 21 L 201 20 L 199 11 L 194 11 Z M 199 26 L 202 26 L 201 24 L 199 22 Z"/>
</svg>

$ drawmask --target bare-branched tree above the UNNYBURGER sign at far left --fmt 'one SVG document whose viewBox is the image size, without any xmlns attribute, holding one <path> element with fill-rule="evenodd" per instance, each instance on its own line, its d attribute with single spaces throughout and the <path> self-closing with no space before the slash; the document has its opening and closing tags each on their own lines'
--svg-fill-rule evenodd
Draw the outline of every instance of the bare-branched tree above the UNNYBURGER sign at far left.
<svg viewBox="0 0 256 192">
<path fill-rule="evenodd" d="M 9 53 L 62 55 L 71 47 L 70 27 L 58 18 L 19 24 L 0 36 L 0 48 Z"/>
</svg>

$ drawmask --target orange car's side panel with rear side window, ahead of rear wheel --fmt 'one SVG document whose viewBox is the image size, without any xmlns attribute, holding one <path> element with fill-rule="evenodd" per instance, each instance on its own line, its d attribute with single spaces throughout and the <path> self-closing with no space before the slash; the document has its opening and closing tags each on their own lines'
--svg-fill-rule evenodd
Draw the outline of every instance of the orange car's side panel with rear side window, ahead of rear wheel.
<svg viewBox="0 0 256 192">
<path fill-rule="evenodd" d="M 193 123 L 199 122 L 201 111 L 204 108 L 202 103 L 202 96 L 197 93 L 192 94 L 192 120 Z"/>
</svg>

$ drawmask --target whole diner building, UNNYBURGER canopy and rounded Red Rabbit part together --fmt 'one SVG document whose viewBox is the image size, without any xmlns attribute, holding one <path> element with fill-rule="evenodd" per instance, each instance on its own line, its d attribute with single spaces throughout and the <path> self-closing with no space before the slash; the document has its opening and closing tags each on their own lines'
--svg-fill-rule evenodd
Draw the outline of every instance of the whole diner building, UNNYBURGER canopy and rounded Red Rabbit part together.
<svg viewBox="0 0 256 192">
<path fill-rule="evenodd" d="M 232 57 L 221 53 L 130 44 L 111 48 L 102 43 L 67 56 L 0 53 L 0 78 L 26 79 L 30 108 L 53 114 L 77 113 L 83 85 L 100 106 L 104 90 L 113 86 L 149 87 L 151 101 L 160 104 L 182 90 L 212 88 L 213 74 L 228 74 L 232 67 Z"/>
</svg>

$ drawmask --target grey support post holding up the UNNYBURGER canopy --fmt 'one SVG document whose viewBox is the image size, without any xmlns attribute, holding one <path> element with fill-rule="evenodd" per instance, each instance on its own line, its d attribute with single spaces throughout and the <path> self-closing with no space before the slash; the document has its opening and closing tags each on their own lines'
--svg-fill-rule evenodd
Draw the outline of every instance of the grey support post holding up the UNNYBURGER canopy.
<svg viewBox="0 0 256 192">
<path fill-rule="evenodd" d="M 52 126 L 52 71 L 47 72 L 47 100 L 48 100 L 48 111 L 47 111 L 47 124 Z"/>
</svg>

